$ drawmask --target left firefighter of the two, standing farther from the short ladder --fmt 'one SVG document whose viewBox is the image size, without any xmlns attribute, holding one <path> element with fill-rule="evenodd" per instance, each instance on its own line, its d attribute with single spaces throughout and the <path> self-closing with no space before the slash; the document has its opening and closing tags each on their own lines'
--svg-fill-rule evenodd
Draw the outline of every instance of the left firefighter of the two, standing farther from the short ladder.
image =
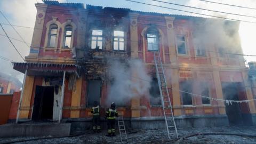
<svg viewBox="0 0 256 144">
<path fill-rule="evenodd" d="M 93 102 L 91 109 L 92 113 L 92 130 L 94 132 L 100 132 L 100 106 L 97 101 Z"/>
</svg>

